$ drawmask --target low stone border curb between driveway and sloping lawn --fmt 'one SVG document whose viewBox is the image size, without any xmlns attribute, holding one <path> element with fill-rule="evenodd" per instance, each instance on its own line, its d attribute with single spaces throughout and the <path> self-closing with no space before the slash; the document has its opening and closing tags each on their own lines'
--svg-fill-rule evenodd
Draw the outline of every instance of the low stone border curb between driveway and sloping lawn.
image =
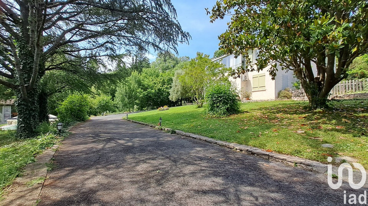
<svg viewBox="0 0 368 206">
<path fill-rule="evenodd" d="M 146 126 L 153 127 L 153 128 L 160 128 L 156 125 L 151 125 L 151 124 L 147 124 L 147 123 L 144 123 L 144 122 L 138 122 L 138 121 L 131 120 L 131 119 L 125 119 L 125 120 L 128 120 L 128 121 L 133 122 L 133 123 L 141 124 L 141 125 L 146 125 Z M 215 139 L 212 139 L 212 138 L 209 138 L 209 137 L 205 137 L 205 136 L 201 136 L 201 135 L 193 134 L 193 133 L 189 133 L 189 132 L 184 132 L 184 131 L 181 131 L 181 130 L 170 129 L 170 128 L 161 128 L 161 129 L 164 129 L 166 131 L 173 130 L 173 131 L 175 131 L 175 133 L 186 136 L 186 137 L 192 137 L 194 139 L 199 139 L 199 140 L 209 142 L 209 143 L 212 143 L 212 144 L 215 144 L 215 145 L 219 145 L 219 146 L 226 147 L 226 148 L 229 148 L 229 149 L 237 150 L 237 151 L 243 152 L 245 154 L 258 156 L 258 157 L 262 157 L 262 158 L 277 161 L 277 162 L 283 162 L 287 165 L 297 166 L 297 167 L 300 167 L 300 168 L 305 169 L 305 170 L 314 171 L 314 172 L 318 172 L 318 173 L 327 172 L 327 165 L 322 164 L 322 163 L 317 162 L 317 161 L 304 159 L 304 158 L 300 158 L 300 157 L 296 157 L 296 156 L 290 156 L 290 155 L 286 155 L 286 154 L 277 154 L 277 153 L 274 153 L 274 152 L 266 152 L 264 150 L 261 150 L 260 148 L 250 147 L 250 146 L 246 146 L 246 145 L 239 145 L 239 144 L 236 144 L 236 143 L 229 143 L 229 142 L 225 142 L 225 141 L 221 141 L 221 140 L 215 140 Z"/>
</svg>

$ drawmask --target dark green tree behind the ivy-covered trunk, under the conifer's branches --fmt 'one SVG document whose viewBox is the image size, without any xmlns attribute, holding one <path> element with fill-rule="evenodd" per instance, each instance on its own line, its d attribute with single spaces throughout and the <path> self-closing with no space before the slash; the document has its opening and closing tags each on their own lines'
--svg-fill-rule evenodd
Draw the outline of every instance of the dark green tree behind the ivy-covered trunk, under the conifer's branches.
<svg viewBox="0 0 368 206">
<path fill-rule="evenodd" d="M 116 74 L 100 73 L 98 63 L 93 60 L 85 62 L 82 59 L 74 58 L 68 61 L 68 58 L 62 54 L 54 57 L 53 60 L 46 62 L 46 69 L 52 67 L 59 69 L 45 71 L 39 82 L 39 122 L 48 121 L 49 111 L 55 114 L 58 104 L 69 95 L 76 92 L 91 94 L 91 88 L 94 86 L 104 86 L 106 81 L 111 82 L 112 77 L 119 77 Z M 82 63 L 84 65 L 81 65 Z M 60 95 L 60 93 L 63 94 Z"/>
</svg>

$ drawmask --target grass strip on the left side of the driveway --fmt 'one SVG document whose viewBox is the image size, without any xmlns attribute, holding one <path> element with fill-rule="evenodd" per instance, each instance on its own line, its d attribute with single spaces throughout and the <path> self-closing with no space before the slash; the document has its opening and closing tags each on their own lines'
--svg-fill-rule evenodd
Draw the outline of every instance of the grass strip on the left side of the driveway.
<svg viewBox="0 0 368 206">
<path fill-rule="evenodd" d="M 56 141 L 53 134 L 17 139 L 15 131 L 0 130 L 0 197 L 4 187 L 22 174 L 26 164 L 34 162 L 37 154 L 53 146 Z"/>
</svg>

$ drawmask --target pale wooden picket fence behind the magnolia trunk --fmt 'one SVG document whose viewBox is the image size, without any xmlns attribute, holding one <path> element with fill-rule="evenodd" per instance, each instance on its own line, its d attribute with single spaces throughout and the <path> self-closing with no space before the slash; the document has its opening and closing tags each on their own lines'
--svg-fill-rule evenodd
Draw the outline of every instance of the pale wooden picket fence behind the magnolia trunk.
<svg viewBox="0 0 368 206">
<path fill-rule="evenodd" d="M 305 98 L 306 94 L 304 89 L 292 90 L 293 98 Z M 352 79 L 344 80 L 336 84 L 331 89 L 331 95 L 344 95 L 352 93 L 365 93 L 368 92 L 368 78 L 367 79 Z"/>
</svg>

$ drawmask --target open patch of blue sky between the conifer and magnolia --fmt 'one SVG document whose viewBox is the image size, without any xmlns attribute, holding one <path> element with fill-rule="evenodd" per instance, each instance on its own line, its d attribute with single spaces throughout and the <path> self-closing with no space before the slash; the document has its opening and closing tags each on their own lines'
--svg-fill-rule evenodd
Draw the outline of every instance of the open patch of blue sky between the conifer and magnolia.
<svg viewBox="0 0 368 206">
<path fill-rule="evenodd" d="M 205 8 L 211 9 L 216 0 L 172 0 L 172 4 L 183 30 L 192 36 L 189 45 L 178 46 L 179 56 L 194 58 L 197 52 L 203 52 L 212 57 L 213 52 L 218 49 L 218 35 L 225 32 L 230 18 L 210 23 Z M 156 55 L 149 55 L 151 60 L 155 57 Z"/>
</svg>

